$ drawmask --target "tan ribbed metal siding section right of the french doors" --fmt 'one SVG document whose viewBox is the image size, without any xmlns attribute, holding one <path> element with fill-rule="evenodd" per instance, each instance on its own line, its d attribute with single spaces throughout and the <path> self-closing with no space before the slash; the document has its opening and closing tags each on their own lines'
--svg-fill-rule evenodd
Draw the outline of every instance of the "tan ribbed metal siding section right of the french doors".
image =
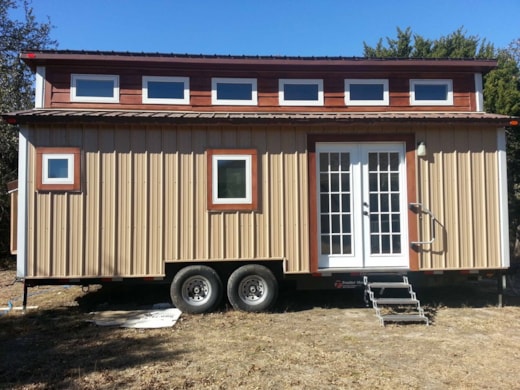
<svg viewBox="0 0 520 390">
<path fill-rule="evenodd" d="M 420 268 L 500 268 L 497 134 L 492 128 L 423 129 L 428 156 L 418 165 L 419 201 L 439 220 L 436 240 L 425 245 Z M 421 239 L 432 237 L 429 219 Z"/>
</svg>

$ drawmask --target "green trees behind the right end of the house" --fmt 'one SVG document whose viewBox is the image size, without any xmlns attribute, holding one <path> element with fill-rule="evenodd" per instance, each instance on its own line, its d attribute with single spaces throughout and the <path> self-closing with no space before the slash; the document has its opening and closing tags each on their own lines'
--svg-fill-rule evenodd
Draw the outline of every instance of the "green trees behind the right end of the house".
<svg viewBox="0 0 520 390">
<path fill-rule="evenodd" d="M 484 108 L 487 112 L 520 116 L 520 39 L 507 49 L 495 47 L 478 36 L 466 35 L 463 28 L 431 40 L 397 28 L 397 38 L 380 39 L 375 47 L 364 45 L 370 58 L 480 58 L 497 59 L 497 68 L 484 76 Z M 520 132 L 507 130 L 508 191 L 511 242 L 520 226 Z"/>
</svg>

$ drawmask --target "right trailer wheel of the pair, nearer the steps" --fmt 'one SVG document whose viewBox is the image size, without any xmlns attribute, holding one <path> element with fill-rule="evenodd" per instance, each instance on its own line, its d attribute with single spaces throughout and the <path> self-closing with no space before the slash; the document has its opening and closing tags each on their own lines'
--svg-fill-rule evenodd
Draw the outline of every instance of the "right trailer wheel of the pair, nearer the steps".
<svg viewBox="0 0 520 390">
<path fill-rule="evenodd" d="M 244 265 L 229 277 L 227 294 L 231 306 L 237 310 L 264 311 L 278 297 L 278 281 L 271 270 L 263 265 Z"/>
</svg>

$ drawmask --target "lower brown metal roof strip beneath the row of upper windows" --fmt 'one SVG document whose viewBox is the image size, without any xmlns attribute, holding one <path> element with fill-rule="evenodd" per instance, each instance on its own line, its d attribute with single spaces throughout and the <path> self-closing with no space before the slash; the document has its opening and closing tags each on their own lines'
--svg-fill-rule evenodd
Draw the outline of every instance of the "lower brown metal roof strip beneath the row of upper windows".
<svg viewBox="0 0 520 390">
<path fill-rule="evenodd" d="M 508 126 L 506 115 L 481 112 L 208 112 L 33 109 L 3 114 L 8 123 L 338 123 L 338 122 L 492 122 Z"/>
</svg>

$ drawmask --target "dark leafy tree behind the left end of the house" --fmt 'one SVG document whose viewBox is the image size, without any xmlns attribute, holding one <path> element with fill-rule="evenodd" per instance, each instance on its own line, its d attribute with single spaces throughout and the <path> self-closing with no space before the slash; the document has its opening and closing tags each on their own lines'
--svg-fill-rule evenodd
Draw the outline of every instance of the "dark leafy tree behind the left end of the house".
<svg viewBox="0 0 520 390">
<path fill-rule="evenodd" d="M 0 0 L 0 112 L 33 107 L 33 76 L 19 54 L 56 47 L 50 38 L 51 28 L 49 21 L 36 20 L 30 0 Z M 17 177 L 17 161 L 18 129 L 0 121 L 0 255 L 9 252 L 6 185 Z"/>
</svg>

